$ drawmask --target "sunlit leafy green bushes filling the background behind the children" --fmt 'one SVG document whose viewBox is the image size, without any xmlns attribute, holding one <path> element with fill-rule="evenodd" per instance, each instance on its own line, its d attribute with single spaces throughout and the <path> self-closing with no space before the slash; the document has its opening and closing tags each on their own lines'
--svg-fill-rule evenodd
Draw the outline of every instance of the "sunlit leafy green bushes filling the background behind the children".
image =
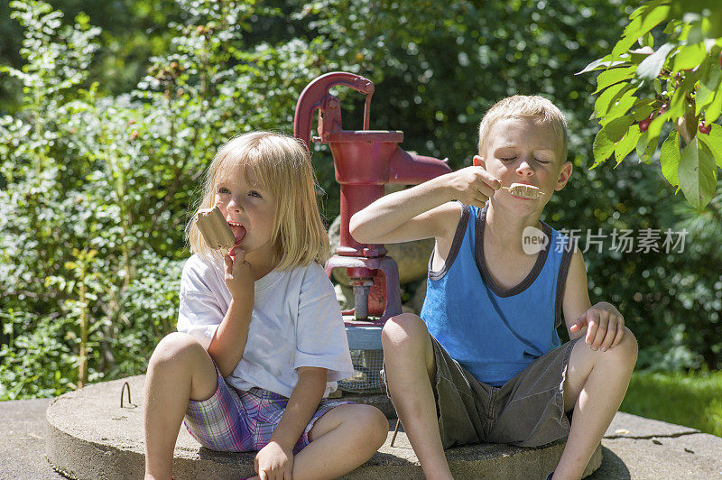
<svg viewBox="0 0 722 480">
<path fill-rule="evenodd" d="M 88 15 L 101 8 L 89 4 Z M 588 123 L 595 86 L 573 73 L 618 40 L 622 13 L 631 10 L 624 2 L 162 5 L 159 15 L 171 19 L 161 28 L 168 33 L 163 48 L 147 59 L 134 87 L 118 90 L 128 77 L 110 85 L 94 69 L 98 56 L 113 57 L 106 31 L 83 14 L 68 21 L 41 2 L 13 4 L 24 63 L 0 74 L 22 85 L 17 113 L 0 116 L 0 399 L 76 387 L 81 345 L 88 381 L 143 373 L 153 347 L 175 326 L 180 265 L 188 256 L 183 229 L 208 162 L 234 134 L 291 133 L 301 90 L 333 70 L 375 82 L 372 129 L 403 130 L 403 148 L 449 157 L 455 168 L 471 162 L 478 122 L 496 100 L 550 97 L 569 120 L 575 173 L 551 199 L 547 222 L 607 233 L 689 231 L 683 254 L 585 254 L 593 301 L 612 301 L 625 314 L 642 346 L 641 365 L 722 367 L 719 199 L 693 217 L 656 171 L 628 162 L 583 168 L 596 129 Z M 65 11 L 71 8 L 77 5 Z M 153 17 L 147 8 L 138 15 Z M 624 117 L 604 122 L 599 140 L 614 145 L 618 160 L 635 146 L 650 154 L 657 148 L 648 134 L 636 144 L 634 135 L 620 137 L 653 108 L 621 111 L 613 100 L 625 95 L 622 83 L 597 98 Z M 344 127 L 360 128 L 361 96 L 338 90 Z M 676 147 L 670 158 L 680 160 L 662 162 L 665 176 L 707 165 L 699 145 L 680 165 L 675 138 L 664 148 Z M 705 144 L 713 154 L 720 150 Z M 330 221 L 339 193 L 328 149 L 317 147 L 313 162 Z"/>
</svg>

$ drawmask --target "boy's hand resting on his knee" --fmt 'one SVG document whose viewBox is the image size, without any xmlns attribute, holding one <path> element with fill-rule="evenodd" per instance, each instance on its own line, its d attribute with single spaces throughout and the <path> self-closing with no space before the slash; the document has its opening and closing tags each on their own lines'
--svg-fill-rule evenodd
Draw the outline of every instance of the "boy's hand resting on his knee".
<svg viewBox="0 0 722 480">
<path fill-rule="evenodd" d="M 617 346 L 625 336 L 625 318 L 614 305 L 600 301 L 577 318 L 569 331 L 577 333 L 587 327 L 585 341 L 592 350 L 602 352 Z"/>
</svg>

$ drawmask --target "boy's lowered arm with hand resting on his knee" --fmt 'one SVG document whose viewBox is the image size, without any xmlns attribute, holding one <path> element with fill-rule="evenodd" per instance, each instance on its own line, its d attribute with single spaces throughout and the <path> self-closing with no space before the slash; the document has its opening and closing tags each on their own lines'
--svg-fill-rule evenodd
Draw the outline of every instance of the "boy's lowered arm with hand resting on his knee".
<svg viewBox="0 0 722 480">
<path fill-rule="evenodd" d="M 601 348 L 602 351 L 622 341 L 625 319 L 606 301 L 592 306 L 587 287 L 587 269 L 581 251 L 576 246 L 569 263 L 561 305 L 569 339 L 585 336 L 585 342 L 592 350 Z"/>
</svg>

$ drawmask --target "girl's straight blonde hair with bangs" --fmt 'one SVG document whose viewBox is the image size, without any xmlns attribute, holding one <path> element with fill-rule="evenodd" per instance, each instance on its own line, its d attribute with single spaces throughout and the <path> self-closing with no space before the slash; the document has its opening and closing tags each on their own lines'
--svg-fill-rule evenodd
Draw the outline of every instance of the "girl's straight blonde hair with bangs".
<svg viewBox="0 0 722 480">
<path fill-rule="evenodd" d="M 248 181 L 247 169 L 254 172 L 258 187 L 271 192 L 276 200 L 271 235 L 275 270 L 326 262 L 329 234 L 316 203 L 318 183 L 310 154 L 296 139 L 272 132 L 236 136 L 216 153 L 204 176 L 200 204 L 186 226 L 190 251 L 213 252 L 196 226 L 196 214 L 215 205 L 214 187 L 219 176 L 234 172 L 245 175 Z"/>
</svg>

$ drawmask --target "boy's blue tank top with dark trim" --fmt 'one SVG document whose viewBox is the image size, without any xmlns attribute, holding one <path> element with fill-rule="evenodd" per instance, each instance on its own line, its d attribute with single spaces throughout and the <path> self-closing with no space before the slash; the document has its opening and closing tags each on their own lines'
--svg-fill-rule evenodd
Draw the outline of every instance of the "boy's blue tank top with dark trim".
<svg viewBox="0 0 722 480">
<path fill-rule="evenodd" d="M 560 346 L 561 300 L 574 245 L 542 222 L 548 242 L 527 277 L 501 289 L 486 268 L 486 208 L 463 206 L 442 270 L 429 263 L 421 318 L 477 380 L 500 386 Z M 433 259 L 433 254 L 431 254 Z"/>
</svg>

